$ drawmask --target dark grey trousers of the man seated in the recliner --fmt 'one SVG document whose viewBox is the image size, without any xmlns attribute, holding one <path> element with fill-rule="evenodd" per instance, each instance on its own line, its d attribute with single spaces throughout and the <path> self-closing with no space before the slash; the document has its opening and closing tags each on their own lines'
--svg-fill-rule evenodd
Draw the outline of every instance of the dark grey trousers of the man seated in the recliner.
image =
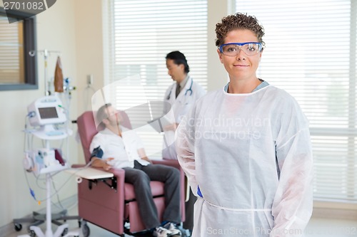
<svg viewBox="0 0 357 237">
<path fill-rule="evenodd" d="M 134 168 L 125 169 L 125 182 L 133 184 L 141 219 L 147 229 L 160 226 L 156 206 L 151 194 L 150 181 L 164 182 L 165 211 L 163 221 L 181 222 L 180 172 L 162 164 L 141 165 L 134 161 Z"/>
</svg>

